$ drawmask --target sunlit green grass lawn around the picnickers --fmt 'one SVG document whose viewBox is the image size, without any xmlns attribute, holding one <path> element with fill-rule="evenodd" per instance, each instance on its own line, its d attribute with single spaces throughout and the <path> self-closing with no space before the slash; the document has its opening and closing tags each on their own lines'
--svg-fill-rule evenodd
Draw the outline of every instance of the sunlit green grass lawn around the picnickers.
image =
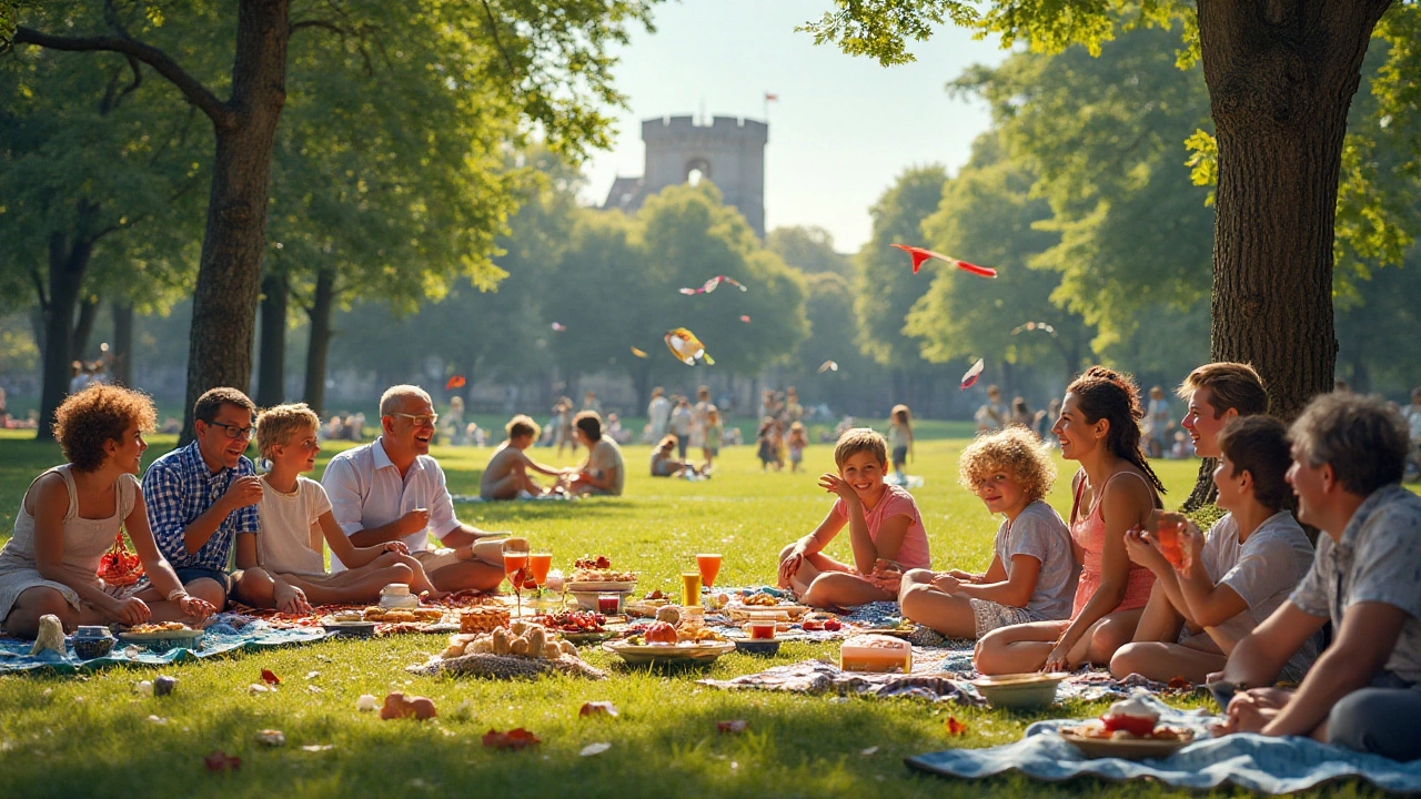
<svg viewBox="0 0 1421 799">
<path fill-rule="evenodd" d="M 149 455 L 172 446 L 155 436 Z M 963 439 L 924 441 L 911 472 L 926 478 L 915 492 L 932 542 L 934 563 L 980 569 L 996 522 L 956 485 Z M 325 458 L 334 452 L 327 449 Z M 551 458 L 546 449 L 540 458 Z M 476 493 L 489 451 L 436 448 L 450 490 Z M 647 476 L 645 446 L 627 446 L 627 496 L 576 503 L 462 505 L 460 518 L 485 529 L 512 529 L 534 547 L 551 547 L 567 569 L 584 553 L 608 554 L 642 573 L 641 589 L 674 589 L 678 569 L 696 552 L 725 556 L 722 584 L 763 583 L 774 556 L 810 530 L 830 498 L 816 476 L 831 468 L 831 449 L 811 446 L 807 472 L 760 473 L 753 446 L 723 451 L 713 481 L 688 483 Z M 149 459 L 151 459 L 149 458 Z M 60 462 L 53 445 L 0 436 L 0 529 L 9 537 L 28 482 Z M 571 463 L 571 458 L 564 458 Z M 1182 500 L 1195 462 L 1158 465 Z M 1069 510 L 1069 471 L 1052 503 Z M 0 537 L 0 540 L 3 540 Z M 831 553 L 848 557 L 847 540 Z M 584 650 L 611 672 L 601 682 L 550 678 L 493 682 L 412 677 L 405 665 L 443 648 L 443 637 L 402 636 L 371 643 L 321 643 L 256 655 L 166 668 L 178 677 L 169 698 L 141 697 L 138 680 L 158 671 L 111 668 L 87 678 L 0 678 L 0 796 L 978 796 L 1164 795 L 1157 786 L 1115 786 L 1094 779 L 1063 785 L 1019 776 L 983 783 L 922 776 L 902 758 L 948 746 L 990 746 L 1020 738 L 1049 715 L 1093 715 L 1103 705 L 1067 705 L 1053 714 L 1017 714 L 929 705 L 911 699 L 848 699 L 723 692 L 696 685 L 705 675 L 732 677 L 807 657 L 834 657 L 833 644 L 786 644 L 772 661 L 732 654 L 708 671 L 628 671 Z M 261 668 L 284 678 L 274 694 L 249 695 Z M 317 674 L 311 674 L 317 672 Z M 308 674 L 311 674 L 308 677 Z M 435 699 L 432 722 L 382 722 L 358 714 L 361 694 L 401 690 Z M 611 699 L 620 718 L 578 719 L 584 701 Z M 468 708 L 468 718 L 455 711 Z M 952 714 L 968 732 L 949 738 Z M 156 717 L 161 721 L 152 721 Z M 745 735 L 719 735 L 716 721 L 749 721 Z M 485 749 L 490 726 L 524 726 L 543 738 L 523 752 Z M 259 746 L 259 729 L 286 732 L 287 745 Z M 610 742 L 583 758 L 587 744 Z M 320 752 L 303 745 L 333 745 Z M 861 751 L 877 746 L 871 755 Z M 242 758 L 234 773 L 210 775 L 213 749 Z M 1329 795 L 1374 795 L 1343 785 Z"/>
</svg>

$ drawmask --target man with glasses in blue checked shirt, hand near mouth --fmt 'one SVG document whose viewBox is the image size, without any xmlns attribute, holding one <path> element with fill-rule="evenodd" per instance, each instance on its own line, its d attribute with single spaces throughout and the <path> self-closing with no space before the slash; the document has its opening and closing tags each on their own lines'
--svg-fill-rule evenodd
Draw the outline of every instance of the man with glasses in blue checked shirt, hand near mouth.
<svg viewBox="0 0 1421 799">
<path fill-rule="evenodd" d="M 144 499 L 158 549 L 193 596 L 222 610 L 232 593 L 227 559 L 239 533 L 257 532 L 261 478 L 243 455 L 256 405 L 236 388 L 213 388 L 193 405 L 188 446 L 144 475 Z"/>
</svg>

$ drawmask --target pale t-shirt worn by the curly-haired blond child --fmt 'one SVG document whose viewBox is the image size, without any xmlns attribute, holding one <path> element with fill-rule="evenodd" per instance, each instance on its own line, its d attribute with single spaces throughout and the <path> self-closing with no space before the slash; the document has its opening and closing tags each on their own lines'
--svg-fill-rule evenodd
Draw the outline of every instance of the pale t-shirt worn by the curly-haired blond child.
<svg viewBox="0 0 1421 799">
<path fill-rule="evenodd" d="M 1080 581 L 1080 564 L 1070 547 L 1070 527 L 1060 513 L 1037 499 L 1016 516 L 1016 522 L 1002 520 L 996 529 L 992 552 L 1002 559 L 1007 577 L 1012 576 L 1012 557 L 1027 554 L 1042 562 L 1036 574 L 1036 590 L 1026 603 L 1043 618 L 1070 618 L 1076 601 L 1076 583 Z"/>
</svg>

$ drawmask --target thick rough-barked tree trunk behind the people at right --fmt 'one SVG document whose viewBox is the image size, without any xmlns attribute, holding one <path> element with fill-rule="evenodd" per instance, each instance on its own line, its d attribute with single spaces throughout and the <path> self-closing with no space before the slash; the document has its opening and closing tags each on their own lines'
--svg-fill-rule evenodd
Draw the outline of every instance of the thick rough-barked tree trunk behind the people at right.
<svg viewBox="0 0 1421 799">
<path fill-rule="evenodd" d="M 1219 146 L 1211 355 L 1253 364 L 1290 419 L 1331 390 L 1337 176 L 1361 60 L 1391 0 L 1198 0 Z M 1187 508 L 1205 496 L 1204 471 Z"/>
</svg>

